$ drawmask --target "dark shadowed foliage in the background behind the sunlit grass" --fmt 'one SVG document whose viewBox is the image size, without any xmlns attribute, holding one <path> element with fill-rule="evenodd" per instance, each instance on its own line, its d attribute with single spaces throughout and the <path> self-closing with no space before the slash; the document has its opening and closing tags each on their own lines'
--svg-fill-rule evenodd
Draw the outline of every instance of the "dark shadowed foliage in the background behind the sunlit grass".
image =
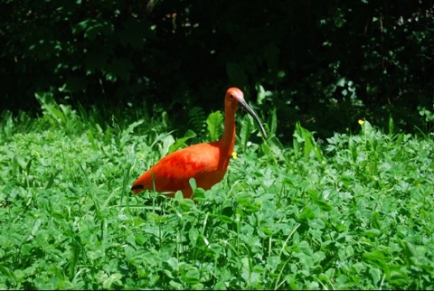
<svg viewBox="0 0 434 291">
<path fill-rule="evenodd" d="M 320 136 L 363 117 L 413 130 L 432 109 L 431 1 L 4 0 L 0 14 L 2 110 L 37 112 L 42 91 L 183 120 L 238 86 L 290 137 L 297 120 Z"/>
</svg>

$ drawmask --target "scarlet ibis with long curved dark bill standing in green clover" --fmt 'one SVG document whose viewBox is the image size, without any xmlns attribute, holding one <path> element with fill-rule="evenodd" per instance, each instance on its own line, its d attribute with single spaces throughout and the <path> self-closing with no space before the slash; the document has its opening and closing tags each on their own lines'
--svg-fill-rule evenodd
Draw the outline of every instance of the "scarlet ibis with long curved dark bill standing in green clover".
<svg viewBox="0 0 434 291">
<path fill-rule="evenodd" d="M 230 88 L 224 97 L 224 131 L 216 142 L 187 146 L 170 155 L 142 174 L 131 190 L 134 193 L 144 190 L 156 190 L 174 196 L 181 190 L 184 198 L 191 198 L 193 190 L 190 178 L 194 178 L 197 187 L 208 190 L 215 183 L 222 181 L 235 145 L 235 112 L 244 108 L 258 123 L 262 135 L 267 138 L 264 127 L 256 113 L 244 100 L 241 89 Z"/>
</svg>

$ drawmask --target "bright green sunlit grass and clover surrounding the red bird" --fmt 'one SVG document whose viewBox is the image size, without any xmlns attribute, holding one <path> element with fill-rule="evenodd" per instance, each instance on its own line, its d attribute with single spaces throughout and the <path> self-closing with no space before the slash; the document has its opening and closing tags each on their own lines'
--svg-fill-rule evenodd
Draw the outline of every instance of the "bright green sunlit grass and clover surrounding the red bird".
<svg viewBox="0 0 434 291">
<path fill-rule="evenodd" d="M 1 289 L 434 288 L 429 136 L 365 121 L 318 145 L 297 124 L 288 147 L 241 113 L 238 157 L 195 204 L 129 192 L 177 147 L 165 113 L 41 102 L 0 120 Z"/>
</svg>

